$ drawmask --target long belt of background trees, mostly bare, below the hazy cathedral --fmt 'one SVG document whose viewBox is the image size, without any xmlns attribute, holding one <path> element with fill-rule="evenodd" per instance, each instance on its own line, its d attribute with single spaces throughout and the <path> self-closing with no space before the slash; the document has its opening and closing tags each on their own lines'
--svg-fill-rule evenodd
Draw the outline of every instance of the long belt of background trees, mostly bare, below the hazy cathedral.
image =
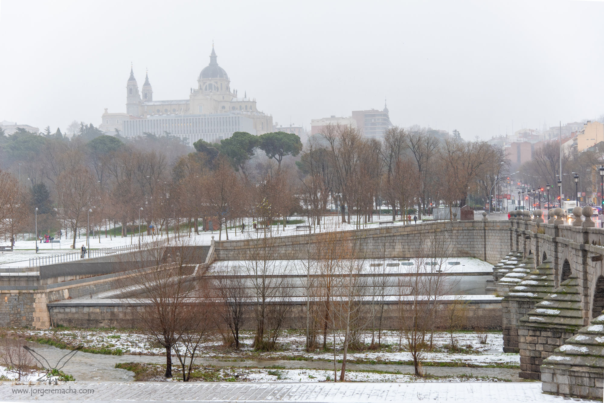
<svg viewBox="0 0 604 403">
<path fill-rule="evenodd" d="M 333 208 L 342 222 L 360 227 L 384 205 L 403 219 L 417 206 L 421 218 L 431 206 L 463 205 L 470 188 L 486 189 L 507 166 L 501 148 L 420 128 L 393 127 L 376 141 L 329 125 L 304 147 L 291 133 L 237 132 L 220 144 L 198 141 L 194 152 L 169 134 L 126 140 L 96 133 L 88 141 L 86 133 L 98 129 L 81 129 L 69 141 L 21 132 L 0 137 L 2 186 L 19 188 L 10 191 L 19 194 L 11 208 L 0 205 L 0 220 L 10 221 L 0 236 L 32 232 L 35 208 L 40 230 L 66 229 L 74 246 L 88 215 L 92 230 L 105 236 L 112 225 L 132 234 L 139 214 L 143 227 L 176 236 L 183 226 L 198 231 L 211 221 L 219 239 L 244 217 L 285 225 L 297 213 L 321 225 Z"/>
</svg>

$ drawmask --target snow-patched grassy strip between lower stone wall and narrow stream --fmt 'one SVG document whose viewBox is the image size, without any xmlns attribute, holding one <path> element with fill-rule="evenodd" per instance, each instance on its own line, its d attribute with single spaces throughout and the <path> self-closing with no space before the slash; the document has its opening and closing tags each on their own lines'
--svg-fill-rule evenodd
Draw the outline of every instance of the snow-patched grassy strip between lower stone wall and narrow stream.
<svg viewBox="0 0 604 403">
<path fill-rule="evenodd" d="M 66 330 L 28 330 L 27 334 L 33 337 L 52 338 L 62 341 L 71 346 L 82 344 L 86 348 L 118 349 L 124 354 L 143 354 L 143 355 L 164 355 L 162 347 L 153 345 L 143 335 L 116 331 L 111 329 L 66 329 Z M 377 334 L 375 335 L 377 343 Z M 321 351 L 306 352 L 304 344 L 306 336 L 300 333 L 284 332 L 279 338 L 281 345 L 277 352 L 254 352 L 251 348 L 254 333 L 243 331 L 241 333 L 241 342 L 243 344 L 240 351 L 226 349 L 222 346 L 222 338 L 216 337 L 214 340 L 205 344 L 204 357 L 206 358 L 257 358 L 257 359 L 280 359 L 288 360 L 291 358 L 306 360 L 333 360 L 332 353 Z M 411 361 L 411 354 L 405 351 L 404 340 L 395 331 L 382 331 L 382 349 L 377 351 L 349 352 L 348 359 L 358 361 L 359 363 L 390 363 Z M 457 345 L 464 349 L 464 352 L 449 352 L 446 344 L 451 344 L 451 336 L 446 332 L 437 332 L 434 334 L 432 343 L 434 349 L 431 352 L 425 352 L 423 361 L 435 361 L 443 363 L 466 363 L 472 366 L 485 365 L 519 365 L 518 354 L 507 354 L 503 352 L 503 335 L 501 332 L 490 332 L 487 335 L 486 344 L 481 344 L 477 334 L 472 332 L 455 332 L 454 340 Z M 361 341 L 365 344 L 371 342 L 371 333 L 365 332 Z M 399 341 L 402 349 L 399 349 Z M 342 340 L 336 335 L 336 346 L 338 352 L 336 359 L 342 359 Z M 202 357 L 203 358 L 203 357 Z"/>
</svg>

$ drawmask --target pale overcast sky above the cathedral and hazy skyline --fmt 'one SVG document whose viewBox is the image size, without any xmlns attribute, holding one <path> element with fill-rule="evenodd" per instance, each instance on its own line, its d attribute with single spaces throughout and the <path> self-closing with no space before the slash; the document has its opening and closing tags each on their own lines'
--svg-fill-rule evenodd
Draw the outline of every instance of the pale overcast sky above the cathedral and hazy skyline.
<svg viewBox="0 0 604 403">
<path fill-rule="evenodd" d="M 209 62 L 273 120 L 382 109 L 463 138 L 604 113 L 599 1 L 0 0 L 0 121 L 65 130 L 125 112 L 130 62 L 155 100 Z"/>
</svg>

